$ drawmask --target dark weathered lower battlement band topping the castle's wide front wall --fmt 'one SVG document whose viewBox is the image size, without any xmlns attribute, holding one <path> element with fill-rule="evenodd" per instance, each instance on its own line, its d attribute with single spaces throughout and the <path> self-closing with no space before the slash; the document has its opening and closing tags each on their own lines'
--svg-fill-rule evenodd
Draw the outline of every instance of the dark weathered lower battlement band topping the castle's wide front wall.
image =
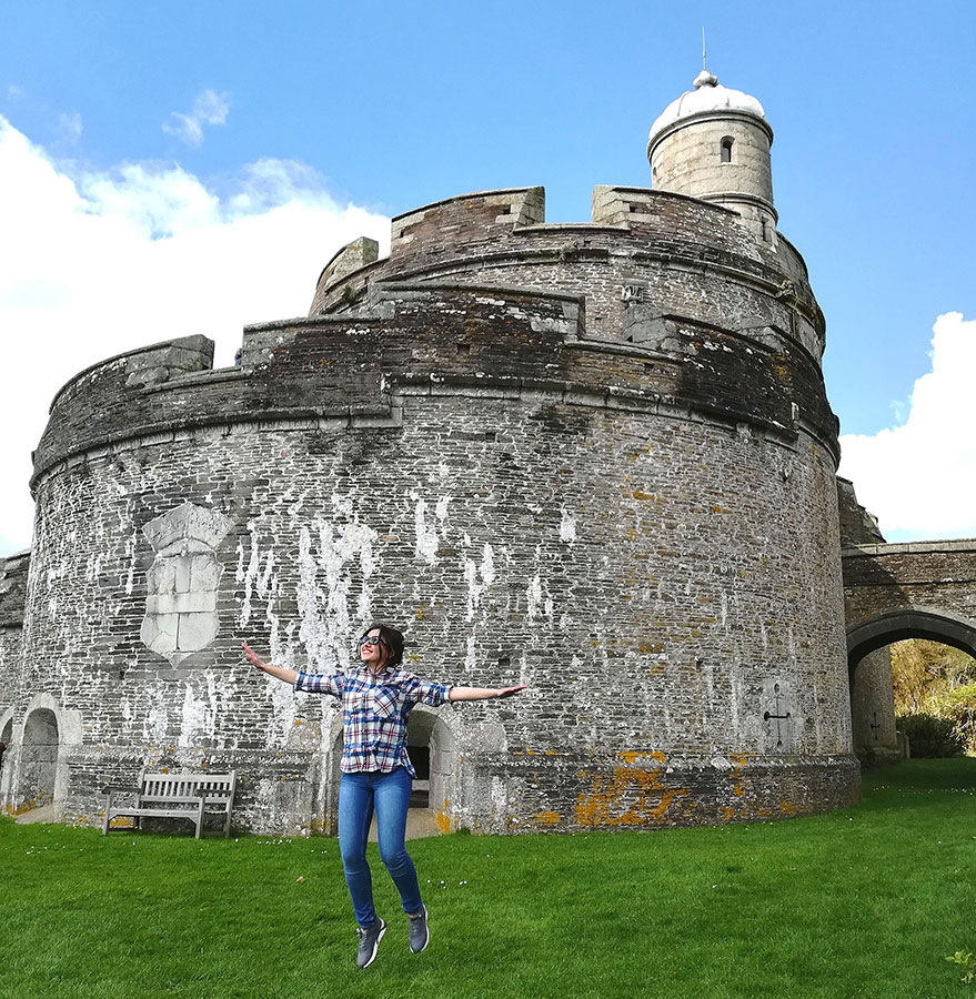
<svg viewBox="0 0 976 999">
<path fill-rule="evenodd" d="M 95 365 L 54 400 L 32 488 L 125 441 L 258 430 L 395 426 L 404 395 L 543 393 L 584 406 L 698 414 L 836 450 L 816 363 L 781 331 L 762 336 L 686 316 L 635 313 L 632 340 L 587 335 L 582 296 L 532 289 L 382 282 L 355 312 L 244 330 L 241 366 L 203 367 L 205 337 Z M 763 340 L 765 339 L 765 343 Z"/>
</svg>

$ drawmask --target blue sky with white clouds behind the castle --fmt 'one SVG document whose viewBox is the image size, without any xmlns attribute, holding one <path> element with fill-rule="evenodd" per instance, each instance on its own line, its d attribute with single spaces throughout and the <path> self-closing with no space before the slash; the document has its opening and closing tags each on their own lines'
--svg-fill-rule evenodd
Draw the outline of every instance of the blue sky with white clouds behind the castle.
<svg viewBox="0 0 976 999">
<path fill-rule="evenodd" d="M 594 184 L 650 185 L 703 26 L 775 132 L 842 471 L 891 539 L 976 535 L 976 4 L 76 0 L 0 14 L 0 555 L 29 543 L 29 453 L 74 371 L 197 332 L 229 363 L 338 245 L 452 194 L 544 184 L 549 221 L 587 220 Z M 913 462 L 945 495 L 899 506 Z"/>
</svg>

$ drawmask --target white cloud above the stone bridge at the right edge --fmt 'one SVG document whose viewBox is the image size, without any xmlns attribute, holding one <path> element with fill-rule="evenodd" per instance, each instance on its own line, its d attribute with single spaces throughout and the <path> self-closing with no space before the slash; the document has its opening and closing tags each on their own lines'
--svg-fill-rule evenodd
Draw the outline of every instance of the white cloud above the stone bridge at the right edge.
<svg viewBox="0 0 976 999">
<path fill-rule="evenodd" d="M 940 315 L 929 356 L 900 426 L 841 437 L 841 474 L 888 541 L 976 537 L 976 321 Z"/>
</svg>

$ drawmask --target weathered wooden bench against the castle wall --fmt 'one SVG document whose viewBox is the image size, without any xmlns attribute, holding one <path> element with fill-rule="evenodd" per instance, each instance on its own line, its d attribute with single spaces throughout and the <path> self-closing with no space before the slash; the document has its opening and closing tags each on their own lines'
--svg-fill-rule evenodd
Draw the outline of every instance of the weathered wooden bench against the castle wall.
<svg viewBox="0 0 976 999">
<path fill-rule="evenodd" d="M 223 835 L 231 834 L 231 808 L 234 804 L 237 775 L 230 774 L 147 774 L 139 784 L 105 787 L 105 820 L 102 835 L 108 835 L 113 818 L 131 816 L 139 828 L 140 819 L 185 818 L 197 826 L 197 839 L 203 829 L 204 814 L 223 814 Z M 117 795 L 135 796 L 134 805 L 120 805 Z"/>
</svg>

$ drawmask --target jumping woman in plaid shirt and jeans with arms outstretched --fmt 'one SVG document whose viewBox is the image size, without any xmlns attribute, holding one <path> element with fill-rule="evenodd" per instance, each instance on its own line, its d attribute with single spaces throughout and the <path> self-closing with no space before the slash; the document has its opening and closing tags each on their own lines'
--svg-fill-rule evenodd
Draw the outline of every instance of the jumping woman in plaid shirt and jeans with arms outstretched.
<svg viewBox="0 0 976 999">
<path fill-rule="evenodd" d="M 373 908 L 373 882 L 366 862 L 366 838 L 373 811 L 380 857 L 393 878 L 410 927 L 410 949 L 420 953 L 430 940 L 427 910 L 420 897 L 416 870 L 406 852 L 406 809 L 411 778 L 416 777 L 406 753 L 406 722 L 417 702 L 433 707 L 449 700 L 509 697 L 517 687 L 454 687 L 421 680 L 400 669 L 403 635 L 374 624 L 360 639 L 359 667 L 348 673 L 308 674 L 261 659 L 246 644 L 244 655 L 271 676 L 309 694 L 331 694 L 342 702 L 342 778 L 339 784 L 339 849 L 345 882 L 359 924 L 356 966 L 376 957 L 386 924 Z"/>
</svg>

